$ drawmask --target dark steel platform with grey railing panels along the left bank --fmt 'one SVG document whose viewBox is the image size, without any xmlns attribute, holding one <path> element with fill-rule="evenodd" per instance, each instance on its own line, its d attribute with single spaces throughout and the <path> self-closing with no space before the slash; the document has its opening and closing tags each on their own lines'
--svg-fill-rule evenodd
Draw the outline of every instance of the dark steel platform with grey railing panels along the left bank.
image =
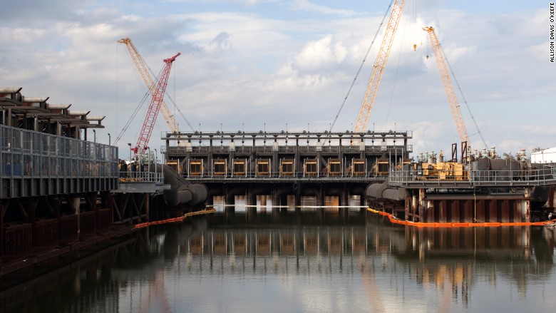
<svg viewBox="0 0 556 313">
<path fill-rule="evenodd" d="M 120 183 L 118 148 L 87 140 L 104 116 L 0 88 L 0 279 L 130 231 L 149 219 L 144 190 Z M 133 183 L 159 176 L 144 173 Z"/>
</svg>

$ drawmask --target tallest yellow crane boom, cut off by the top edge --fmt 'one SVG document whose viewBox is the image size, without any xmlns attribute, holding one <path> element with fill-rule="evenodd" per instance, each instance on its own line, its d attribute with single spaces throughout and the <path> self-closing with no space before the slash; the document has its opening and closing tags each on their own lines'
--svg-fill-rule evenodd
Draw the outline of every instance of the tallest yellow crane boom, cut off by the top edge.
<svg viewBox="0 0 556 313">
<path fill-rule="evenodd" d="M 405 4 L 406 0 L 396 0 L 392 6 L 392 13 L 390 14 L 390 19 L 388 19 L 386 34 L 384 34 L 379 54 L 376 56 L 373 73 L 371 74 L 371 79 L 369 79 L 363 103 L 361 103 L 361 109 L 359 110 L 359 115 L 357 116 L 355 123 L 354 132 L 356 133 L 364 132 L 367 127 L 367 123 L 369 123 L 371 109 L 373 108 L 376 93 L 379 91 L 379 85 L 384 73 L 384 68 L 386 67 L 386 61 L 388 61 L 388 55 L 390 54 L 394 35 L 396 35 L 396 29 L 398 29 L 401 13 L 403 12 L 403 6 L 405 6 Z"/>
</svg>

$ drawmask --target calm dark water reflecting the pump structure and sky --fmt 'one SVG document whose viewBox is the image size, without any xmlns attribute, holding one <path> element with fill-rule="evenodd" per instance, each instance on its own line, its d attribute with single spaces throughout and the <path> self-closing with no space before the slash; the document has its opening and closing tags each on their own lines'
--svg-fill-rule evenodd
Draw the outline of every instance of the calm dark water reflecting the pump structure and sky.
<svg viewBox="0 0 556 313">
<path fill-rule="evenodd" d="M 553 312 L 555 230 L 246 208 L 135 232 L 0 294 L 2 312 Z"/>
</svg>

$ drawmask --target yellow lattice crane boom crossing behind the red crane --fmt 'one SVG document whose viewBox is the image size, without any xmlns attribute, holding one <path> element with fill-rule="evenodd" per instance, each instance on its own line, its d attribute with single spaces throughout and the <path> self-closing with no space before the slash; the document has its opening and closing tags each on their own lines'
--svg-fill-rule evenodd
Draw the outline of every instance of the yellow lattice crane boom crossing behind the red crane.
<svg viewBox="0 0 556 313">
<path fill-rule="evenodd" d="M 143 57 L 139 54 L 135 46 L 133 46 L 131 39 L 129 38 L 120 39 L 118 40 L 118 43 L 125 43 L 125 46 L 128 47 L 128 51 L 131 56 L 131 59 L 133 60 L 133 63 L 135 63 L 135 66 L 137 66 L 141 78 L 143 78 L 143 81 L 145 81 L 145 85 L 147 86 L 150 95 L 154 97 L 155 82 L 153 80 L 153 77 L 150 75 L 150 71 L 148 70 L 148 66 L 145 63 L 145 60 L 143 60 Z M 168 106 L 166 106 L 166 103 L 164 101 L 160 103 L 160 113 L 162 113 L 162 115 L 164 116 L 164 119 L 168 124 L 168 128 L 170 128 L 170 131 L 174 134 L 180 133 L 180 129 L 177 127 L 177 124 L 175 123 L 175 118 L 173 114 L 170 113 L 170 110 L 168 109 Z M 185 140 L 178 140 L 177 144 L 185 145 Z"/>
</svg>

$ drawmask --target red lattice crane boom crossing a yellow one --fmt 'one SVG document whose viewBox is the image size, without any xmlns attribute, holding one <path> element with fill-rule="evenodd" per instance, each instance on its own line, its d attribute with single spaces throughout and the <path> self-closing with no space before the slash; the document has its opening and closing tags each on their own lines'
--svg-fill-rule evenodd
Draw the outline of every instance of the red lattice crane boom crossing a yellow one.
<svg viewBox="0 0 556 313">
<path fill-rule="evenodd" d="M 153 98 L 150 100 L 149 107 L 147 109 L 147 115 L 143 121 L 143 127 L 141 128 L 141 133 L 137 140 L 137 144 L 133 150 L 133 155 L 137 155 L 139 151 L 145 151 L 148 148 L 148 143 L 150 140 L 150 135 L 153 133 L 153 127 L 155 126 L 156 117 L 158 116 L 158 111 L 160 111 L 160 103 L 163 102 L 164 93 L 166 92 L 166 86 L 168 85 L 168 76 L 170 76 L 170 68 L 172 68 L 172 63 L 175 58 L 182 53 L 177 53 L 171 58 L 165 58 L 164 63 L 166 66 L 163 69 L 163 73 L 158 80 L 155 91 L 153 92 Z"/>
</svg>

